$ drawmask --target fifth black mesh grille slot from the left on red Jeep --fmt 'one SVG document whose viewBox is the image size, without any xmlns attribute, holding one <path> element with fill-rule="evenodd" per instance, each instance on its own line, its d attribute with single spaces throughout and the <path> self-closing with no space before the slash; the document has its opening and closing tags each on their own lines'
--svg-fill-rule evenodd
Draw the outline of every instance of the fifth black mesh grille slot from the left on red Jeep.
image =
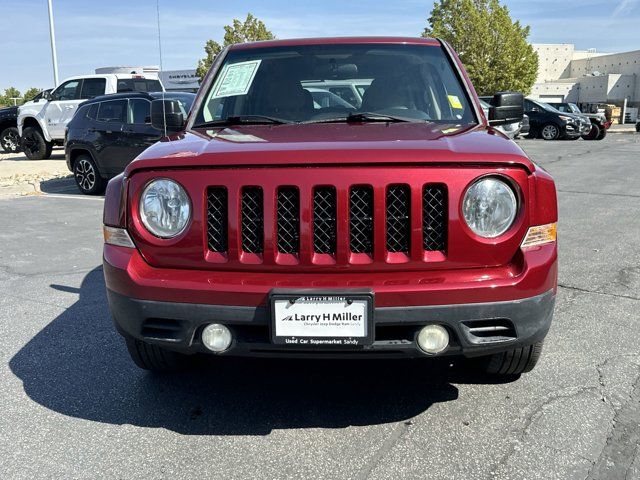
<svg viewBox="0 0 640 480">
<path fill-rule="evenodd" d="M 373 188 L 353 187 L 349 194 L 349 244 L 353 253 L 373 253 Z"/>
</svg>

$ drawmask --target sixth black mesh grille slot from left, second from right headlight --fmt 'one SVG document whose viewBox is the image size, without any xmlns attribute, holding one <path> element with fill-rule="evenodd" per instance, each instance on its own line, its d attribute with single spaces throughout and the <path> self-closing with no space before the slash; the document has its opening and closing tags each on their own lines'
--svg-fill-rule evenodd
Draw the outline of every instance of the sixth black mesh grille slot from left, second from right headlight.
<svg viewBox="0 0 640 480">
<path fill-rule="evenodd" d="M 387 189 L 387 250 L 409 252 L 411 239 L 411 190 L 408 185 Z"/>
</svg>

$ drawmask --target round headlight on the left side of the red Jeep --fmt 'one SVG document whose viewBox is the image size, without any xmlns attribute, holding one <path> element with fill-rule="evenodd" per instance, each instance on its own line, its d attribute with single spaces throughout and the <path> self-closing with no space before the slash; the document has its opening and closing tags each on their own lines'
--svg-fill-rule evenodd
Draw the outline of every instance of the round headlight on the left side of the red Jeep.
<svg viewBox="0 0 640 480">
<path fill-rule="evenodd" d="M 172 238 L 187 227 L 191 217 L 189 195 L 180 184 L 167 178 L 152 181 L 140 197 L 140 218 L 156 237 Z"/>
</svg>

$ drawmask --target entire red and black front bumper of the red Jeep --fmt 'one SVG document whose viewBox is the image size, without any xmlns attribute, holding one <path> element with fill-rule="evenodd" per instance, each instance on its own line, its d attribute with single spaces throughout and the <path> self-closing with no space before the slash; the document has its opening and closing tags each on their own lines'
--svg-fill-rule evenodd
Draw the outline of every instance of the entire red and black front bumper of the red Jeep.
<svg viewBox="0 0 640 480">
<path fill-rule="evenodd" d="M 108 300 L 122 334 L 184 353 L 210 353 L 200 342 L 210 323 L 227 325 L 234 356 L 426 356 L 416 345 L 421 326 L 449 330 L 441 355 L 478 356 L 542 340 L 551 323 L 557 280 L 555 244 L 522 252 L 514 263 L 460 271 L 326 275 L 252 274 L 158 269 L 135 249 L 105 245 Z M 297 277 L 297 278 L 296 278 Z M 340 279 L 336 280 L 336 277 Z M 295 279 L 294 279 L 295 278 Z M 344 278 L 344 279 L 342 279 Z M 271 343 L 269 292 L 370 289 L 374 342 L 314 347 Z"/>
</svg>

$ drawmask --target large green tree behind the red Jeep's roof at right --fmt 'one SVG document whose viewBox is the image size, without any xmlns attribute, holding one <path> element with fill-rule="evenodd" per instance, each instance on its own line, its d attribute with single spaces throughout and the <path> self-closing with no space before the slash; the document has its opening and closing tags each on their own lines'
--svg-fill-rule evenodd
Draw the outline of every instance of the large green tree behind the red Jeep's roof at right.
<svg viewBox="0 0 640 480">
<path fill-rule="evenodd" d="M 479 95 L 504 90 L 527 95 L 538 74 L 529 30 L 511 19 L 500 0 L 439 0 L 422 36 L 451 44 Z"/>
</svg>

